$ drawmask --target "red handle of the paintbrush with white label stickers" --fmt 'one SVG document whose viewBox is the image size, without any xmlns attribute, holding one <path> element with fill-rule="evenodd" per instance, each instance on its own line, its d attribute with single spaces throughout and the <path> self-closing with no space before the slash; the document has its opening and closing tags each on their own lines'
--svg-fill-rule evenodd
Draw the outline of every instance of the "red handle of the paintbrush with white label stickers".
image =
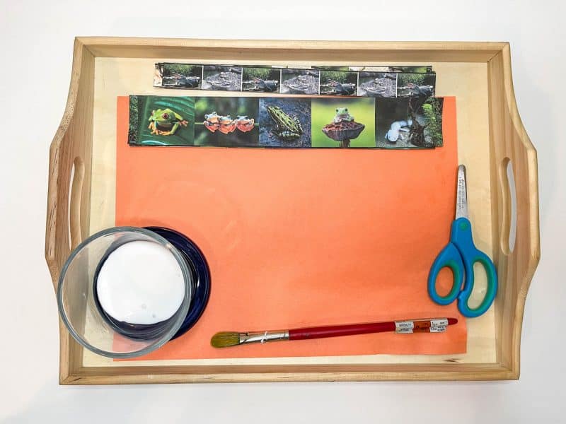
<svg viewBox="0 0 566 424">
<path fill-rule="evenodd" d="M 347 325 L 329 325 L 306 327 L 304 329 L 289 330 L 289 340 L 304 340 L 306 338 L 323 338 L 337 336 L 353 336 L 354 334 L 383 333 L 386 331 L 395 331 L 398 333 L 422 333 L 434 329 L 434 322 L 438 319 L 415 319 L 408 321 L 391 321 L 391 322 L 370 322 L 366 324 L 347 324 Z M 448 325 L 456 324 L 458 319 L 448 318 Z M 411 331 L 403 331 L 407 323 L 412 323 Z M 410 326 L 410 325 L 409 325 Z"/>
</svg>

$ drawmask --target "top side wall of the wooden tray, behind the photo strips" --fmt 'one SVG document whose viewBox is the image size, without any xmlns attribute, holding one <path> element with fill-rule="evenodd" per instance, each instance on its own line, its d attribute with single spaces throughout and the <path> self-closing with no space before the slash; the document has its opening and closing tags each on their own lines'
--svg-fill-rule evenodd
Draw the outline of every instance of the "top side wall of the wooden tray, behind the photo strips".
<svg viewBox="0 0 566 424">
<path fill-rule="evenodd" d="M 487 62 L 501 42 L 369 42 L 300 40 L 187 40 L 178 38 L 80 37 L 96 57 L 293 61 L 367 64 L 368 61 Z"/>
</svg>

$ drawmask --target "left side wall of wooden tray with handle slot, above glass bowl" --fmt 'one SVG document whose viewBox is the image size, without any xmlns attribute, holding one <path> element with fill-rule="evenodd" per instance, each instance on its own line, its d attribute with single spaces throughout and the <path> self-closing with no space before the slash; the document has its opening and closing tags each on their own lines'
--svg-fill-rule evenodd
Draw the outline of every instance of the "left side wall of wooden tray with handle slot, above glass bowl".
<svg viewBox="0 0 566 424">
<path fill-rule="evenodd" d="M 93 72 L 93 55 L 75 40 L 67 106 L 50 146 L 45 259 L 55 289 L 71 249 L 88 235 Z"/>
</svg>

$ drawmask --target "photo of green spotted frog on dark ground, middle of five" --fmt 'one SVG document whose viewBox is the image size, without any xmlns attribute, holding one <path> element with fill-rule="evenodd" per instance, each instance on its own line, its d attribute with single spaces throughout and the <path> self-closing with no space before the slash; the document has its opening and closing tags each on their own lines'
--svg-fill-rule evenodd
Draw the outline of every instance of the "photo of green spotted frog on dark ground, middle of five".
<svg viewBox="0 0 566 424">
<path fill-rule="evenodd" d="M 310 99 L 260 99 L 260 146 L 308 147 L 310 145 Z"/>
</svg>

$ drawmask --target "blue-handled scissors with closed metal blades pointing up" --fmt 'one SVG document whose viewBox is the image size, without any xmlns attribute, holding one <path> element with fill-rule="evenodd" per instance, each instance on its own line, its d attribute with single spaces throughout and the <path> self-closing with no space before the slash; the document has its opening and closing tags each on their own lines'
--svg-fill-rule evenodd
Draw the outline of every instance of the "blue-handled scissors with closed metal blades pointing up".
<svg viewBox="0 0 566 424">
<path fill-rule="evenodd" d="M 478 307 L 470 309 L 468 300 L 472 295 L 473 266 L 479 262 L 487 275 L 487 291 Z M 454 274 L 450 293 L 441 296 L 437 293 L 438 273 L 447 266 Z M 462 288 L 463 283 L 463 288 Z M 462 289 L 461 289 L 462 288 Z M 472 224 L 468 220 L 468 196 L 466 194 L 466 167 L 458 166 L 458 185 L 456 191 L 456 219 L 450 230 L 450 241 L 434 259 L 428 278 L 429 295 L 439 305 L 449 305 L 458 299 L 458 310 L 464 317 L 479 317 L 487 311 L 497 293 L 497 272 L 492 260 L 478 250 L 472 240 Z"/>
</svg>

